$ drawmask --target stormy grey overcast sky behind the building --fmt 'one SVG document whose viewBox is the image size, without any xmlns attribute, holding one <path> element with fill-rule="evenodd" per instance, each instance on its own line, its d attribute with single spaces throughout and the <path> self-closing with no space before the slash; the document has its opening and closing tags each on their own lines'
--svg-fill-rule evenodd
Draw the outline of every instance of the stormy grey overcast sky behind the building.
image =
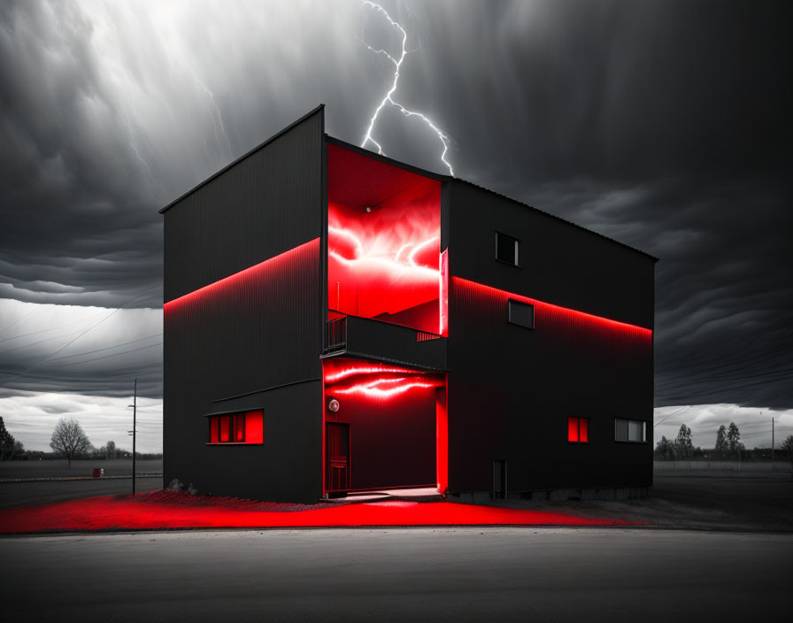
<svg viewBox="0 0 793 623">
<path fill-rule="evenodd" d="M 788 4 L 383 2 L 395 98 L 458 177 L 661 259 L 656 405 L 690 421 L 793 426 Z M 59 413 L 101 445 L 135 376 L 157 411 L 158 208 L 320 102 L 361 142 L 393 73 L 366 44 L 400 50 L 358 0 L 0 4 L 0 415 L 28 447 Z M 376 131 L 445 173 L 420 122 Z"/>
</svg>

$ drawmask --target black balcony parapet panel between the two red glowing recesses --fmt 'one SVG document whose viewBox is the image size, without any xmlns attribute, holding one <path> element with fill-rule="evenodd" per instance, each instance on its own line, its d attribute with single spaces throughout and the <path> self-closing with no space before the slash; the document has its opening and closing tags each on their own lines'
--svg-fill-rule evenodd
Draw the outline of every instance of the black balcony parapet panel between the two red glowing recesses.
<svg viewBox="0 0 793 623">
<path fill-rule="evenodd" d="M 346 352 L 350 357 L 445 370 L 446 339 L 420 340 L 420 335 L 416 329 L 348 316 Z"/>
</svg>

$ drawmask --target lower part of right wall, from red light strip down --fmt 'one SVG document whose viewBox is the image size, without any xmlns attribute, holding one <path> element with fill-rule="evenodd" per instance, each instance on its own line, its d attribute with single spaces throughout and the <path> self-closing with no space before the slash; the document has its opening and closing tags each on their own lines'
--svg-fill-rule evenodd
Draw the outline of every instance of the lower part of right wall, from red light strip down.
<svg viewBox="0 0 793 623">
<path fill-rule="evenodd" d="M 614 440 L 615 418 L 652 421 L 650 332 L 542 304 L 521 327 L 510 298 L 450 283 L 450 491 L 488 491 L 495 459 L 513 492 L 650 485 L 651 424 L 646 443 Z M 568 417 L 589 418 L 589 443 L 567 441 Z"/>
</svg>

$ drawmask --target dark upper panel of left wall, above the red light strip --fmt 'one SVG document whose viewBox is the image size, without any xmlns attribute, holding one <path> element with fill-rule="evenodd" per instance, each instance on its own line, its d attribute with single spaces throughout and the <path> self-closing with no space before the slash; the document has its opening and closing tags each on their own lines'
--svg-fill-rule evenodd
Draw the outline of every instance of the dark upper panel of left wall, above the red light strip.
<svg viewBox="0 0 793 623">
<path fill-rule="evenodd" d="M 165 212 L 166 301 L 321 233 L 323 110 Z"/>
</svg>

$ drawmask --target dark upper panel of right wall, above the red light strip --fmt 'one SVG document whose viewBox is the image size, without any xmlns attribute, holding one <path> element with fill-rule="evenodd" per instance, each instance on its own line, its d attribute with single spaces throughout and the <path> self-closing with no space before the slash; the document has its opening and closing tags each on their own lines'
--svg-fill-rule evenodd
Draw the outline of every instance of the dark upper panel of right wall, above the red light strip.
<svg viewBox="0 0 793 623">
<path fill-rule="evenodd" d="M 597 316 L 653 327 L 655 260 L 461 181 L 448 182 L 450 273 Z M 497 261 L 496 233 L 519 241 Z"/>
</svg>

